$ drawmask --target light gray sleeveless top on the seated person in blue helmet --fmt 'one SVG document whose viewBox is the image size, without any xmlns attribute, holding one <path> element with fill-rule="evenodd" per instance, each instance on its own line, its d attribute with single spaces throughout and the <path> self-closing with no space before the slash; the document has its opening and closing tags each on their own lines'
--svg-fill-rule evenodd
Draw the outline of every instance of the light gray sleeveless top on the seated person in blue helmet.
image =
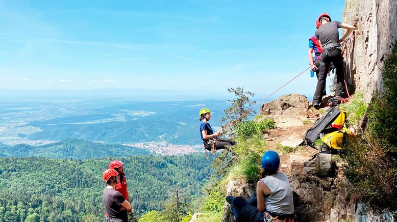
<svg viewBox="0 0 397 222">
<path fill-rule="evenodd" d="M 266 198 L 266 210 L 282 214 L 292 214 L 293 197 L 289 180 L 283 172 L 272 174 L 261 179 L 271 193 Z"/>
</svg>

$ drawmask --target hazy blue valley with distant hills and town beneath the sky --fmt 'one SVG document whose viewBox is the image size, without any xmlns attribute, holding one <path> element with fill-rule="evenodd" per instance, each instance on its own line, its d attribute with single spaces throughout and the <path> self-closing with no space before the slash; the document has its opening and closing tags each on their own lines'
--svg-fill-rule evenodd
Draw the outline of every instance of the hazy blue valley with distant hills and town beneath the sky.
<svg viewBox="0 0 397 222">
<path fill-rule="evenodd" d="M 0 142 L 77 138 L 118 144 L 198 145 L 202 144 L 198 111 L 208 107 L 216 129 L 229 106 L 226 100 L 17 100 L 0 103 Z"/>
</svg>

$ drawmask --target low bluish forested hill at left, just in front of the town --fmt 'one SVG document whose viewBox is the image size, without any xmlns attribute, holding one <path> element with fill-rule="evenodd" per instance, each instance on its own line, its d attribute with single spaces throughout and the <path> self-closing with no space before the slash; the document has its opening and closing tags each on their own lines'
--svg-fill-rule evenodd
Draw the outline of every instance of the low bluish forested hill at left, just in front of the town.
<svg viewBox="0 0 397 222">
<path fill-rule="evenodd" d="M 0 156 L 4 157 L 47 157 L 86 159 L 106 156 L 148 155 L 144 149 L 127 147 L 120 144 L 93 143 L 85 140 L 67 139 L 58 143 L 42 146 L 18 144 L 7 146 L 0 144 Z"/>
</svg>

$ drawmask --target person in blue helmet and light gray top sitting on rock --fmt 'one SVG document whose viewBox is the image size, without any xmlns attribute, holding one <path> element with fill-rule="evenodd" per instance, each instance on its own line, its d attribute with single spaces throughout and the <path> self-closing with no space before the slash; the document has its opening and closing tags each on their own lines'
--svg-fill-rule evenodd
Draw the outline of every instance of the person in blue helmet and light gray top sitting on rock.
<svg viewBox="0 0 397 222">
<path fill-rule="evenodd" d="M 287 176 L 279 172 L 279 165 L 279 154 L 267 151 L 261 159 L 262 179 L 257 183 L 256 193 L 247 201 L 231 196 L 226 198 L 234 221 L 294 221 L 292 189 Z"/>
</svg>

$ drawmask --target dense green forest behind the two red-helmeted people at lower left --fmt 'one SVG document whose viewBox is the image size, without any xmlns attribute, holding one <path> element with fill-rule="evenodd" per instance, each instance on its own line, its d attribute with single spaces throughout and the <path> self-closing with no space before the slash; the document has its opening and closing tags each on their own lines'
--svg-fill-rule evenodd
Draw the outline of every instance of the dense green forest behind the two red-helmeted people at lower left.
<svg viewBox="0 0 397 222">
<path fill-rule="evenodd" d="M 161 210 L 176 187 L 200 196 L 212 163 L 203 155 L 120 158 L 133 212 Z M 0 221 L 102 221 L 102 172 L 111 160 L 0 158 Z"/>
</svg>

